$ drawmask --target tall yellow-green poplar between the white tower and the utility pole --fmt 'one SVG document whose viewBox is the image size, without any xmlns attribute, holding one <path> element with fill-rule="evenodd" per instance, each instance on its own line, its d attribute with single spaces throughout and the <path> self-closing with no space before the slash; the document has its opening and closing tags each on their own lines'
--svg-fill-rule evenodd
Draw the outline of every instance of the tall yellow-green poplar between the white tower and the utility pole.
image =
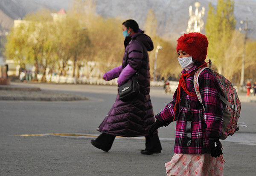
<svg viewBox="0 0 256 176">
<path fill-rule="evenodd" d="M 227 48 L 232 45 L 236 20 L 234 18 L 233 0 L 218 0 L 215 10 L 209 3 L 207 23 L 205 26 L 206 35 L 209 41 L 207 57 L 212 60 L 218 72 L 227 74 L 225 68 L 228 58 L 224 56 Z"/>
</svg>

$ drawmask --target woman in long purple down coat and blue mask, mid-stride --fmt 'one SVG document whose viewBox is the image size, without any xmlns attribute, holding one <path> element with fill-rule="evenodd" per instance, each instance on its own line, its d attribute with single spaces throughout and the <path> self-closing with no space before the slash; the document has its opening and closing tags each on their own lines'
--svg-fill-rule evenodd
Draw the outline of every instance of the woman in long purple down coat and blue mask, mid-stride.
<svg viewBox="0 0 256 176">
<path fill-rule="evenodd" d="M 111 80 L 118 77 L 119 87 L 133 79 L 137 72 L 140 94 L 127 102 L 120 100 L 117 94 L 115 103 L 97 129 L 102 133 L 96 140 L 91 140 L 91 143 L 96 148 L 108 152 L 116 136 L 145 136 L 145 150 L 140 152 L 148 155 L 161 153 L 162 147 L 157 131 L 154 132 L 152 138 L 148 137 L 148 129 L 155 122 L 149 96 L 150 67 L 148 58 L 148 51 L 152 51 L 154 48 L 153 42 L 150 37 L 143 34 L 144 32 L 139 29 L 134 20 L 125 21 L 122 24 L 122 30 L 125 37 L 125 54 L 122 65 L 105 73 L 103 78 Z M 125 65 L 126 53 L 128 54 L 127 65 Z"/>
</svg>

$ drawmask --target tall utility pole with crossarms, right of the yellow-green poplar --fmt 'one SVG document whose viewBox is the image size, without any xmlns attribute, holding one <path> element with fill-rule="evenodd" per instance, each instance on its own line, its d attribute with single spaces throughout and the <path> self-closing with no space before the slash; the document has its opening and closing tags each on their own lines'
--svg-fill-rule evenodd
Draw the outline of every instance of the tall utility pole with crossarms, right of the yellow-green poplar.
<svg viewBox="0 0 256 176">
<path fill-rule="evenodd" d="M 248 22 L 251 22 L 252 21 L 248 21 L 248 18 L 246 18 L 245 21 L 241 20 L 240 23 L 243 24 L 245 23 L 245 27 L 244 27 L 244 31 L 245 31 L 245 34 L 244 34 L 244 51 L 243 51 L 243 55 L 242 55 L 242 68 L 241 68 L 241 78 L 240 78 L 240 89 L 242 90 L 243 86 L 244 86 L 244 62 L 245 62 L 245 51 L 246 51 L 246 40 L 247 40 L 247 31 L 250 30 L 248 29 Z M 239 31 L 241 31 L 242 28 L 239 28 Z"/>
</svg>

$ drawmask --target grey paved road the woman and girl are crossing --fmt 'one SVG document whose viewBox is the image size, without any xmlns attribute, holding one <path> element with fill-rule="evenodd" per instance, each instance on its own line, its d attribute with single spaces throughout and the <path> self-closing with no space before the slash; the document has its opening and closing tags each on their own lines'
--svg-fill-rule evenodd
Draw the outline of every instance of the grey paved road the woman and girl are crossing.
<svg viewBox="0 0 256 176">
<path fill-rule="evenodd" d="M 54 95 L 87 97 L 79 101 L 0 100 L 0 175 L 2 176 L 164 176 L 164 163 L 173 155 L 175 123 L 159 129 L 163 147 L 145 156 L 143 138 L 116 138 L 108 153 L 90 139 L 116 97 L 115 86 L 23 84 Z M 0 91 L 1 95 L 1 91 Z M 61 95 L 60 95 L 61 96 Z M 242 96 L 241 96 L 242 97 Z M 154 112 L 171 101 L 162 88 L 151 88 Z M 242 98 L 241 98 L 242 99 Z M 244 99 L 241 128 L 223 141 L 224 176 L 254 176 L 256 172 L 256 103 Z M 27 135 L 26 135 L 27 134 Z"/>
</svg>

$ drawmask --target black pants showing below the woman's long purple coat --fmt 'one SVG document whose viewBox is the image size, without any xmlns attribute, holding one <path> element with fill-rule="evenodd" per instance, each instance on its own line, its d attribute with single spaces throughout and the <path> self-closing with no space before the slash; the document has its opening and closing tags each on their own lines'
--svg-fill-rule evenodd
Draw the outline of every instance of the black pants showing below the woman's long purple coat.
<svg viewBox="0 0 256 176">
<path fill-rule="evenodd" d="M 115 138 L 116 138 L 116 136 L 114 136 L 114 135 L 102 133 L 97 137 L 97 139 L 95 141 L 97 143 L 99 143 L 99 145 L 101 145 L 106 150 L 110 150 Z M 154 134 L 153 137 L 145 136 L 145 138 L 146 138 L 145 150 L 148 150 L 148 151 L 162 150 L 162 146 L 161 146 L 161 143 L 160 143 L 160 140 L 159 140 L 159 137 L 157 134 Z"/>
</svg>

